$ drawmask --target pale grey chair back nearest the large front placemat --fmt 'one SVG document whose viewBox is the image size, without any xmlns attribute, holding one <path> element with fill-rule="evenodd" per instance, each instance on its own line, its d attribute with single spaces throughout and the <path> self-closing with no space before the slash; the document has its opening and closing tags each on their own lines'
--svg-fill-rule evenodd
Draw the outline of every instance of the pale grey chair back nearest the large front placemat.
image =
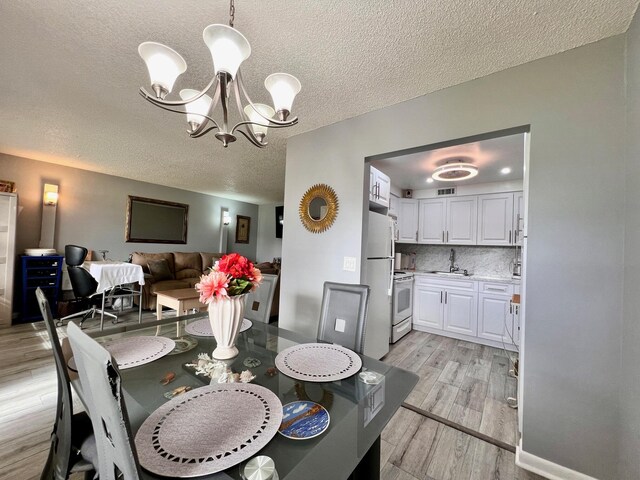
<svg viewBox="0 0 640 480">
<path fill-rule="evenodd" d="M 111 354 L 73 322 L 67 326 L 73 358 L 98 448 L 100 480 L 139 480 L 140 466 L 129 415 L 122 396 L 120 371 Z"/>
</svg>

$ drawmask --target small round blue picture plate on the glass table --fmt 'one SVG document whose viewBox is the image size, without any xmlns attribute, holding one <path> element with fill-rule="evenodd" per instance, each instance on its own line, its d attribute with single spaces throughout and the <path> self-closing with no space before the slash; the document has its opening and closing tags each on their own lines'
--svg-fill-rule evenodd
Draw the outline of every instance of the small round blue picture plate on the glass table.
<svg viewBox="0 0 640 480">
<path fill-rule="evenodd" d="M 298 401 L 282 407 L 282 423 L 278 433 L 292 440 L 314 438 L 329 428 L 329 412 L 322 405 Z"/>
</svg>

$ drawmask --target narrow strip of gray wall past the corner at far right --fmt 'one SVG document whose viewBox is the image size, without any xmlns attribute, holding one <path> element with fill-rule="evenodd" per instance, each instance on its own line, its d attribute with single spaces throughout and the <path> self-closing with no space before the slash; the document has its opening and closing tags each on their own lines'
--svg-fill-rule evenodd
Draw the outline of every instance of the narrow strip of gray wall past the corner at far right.
<svg viewBox="0 0 640 480">
<path fill-rule="evenodd" d="M 640 478 L 640 13 L 627 32 L 627 183 L 620 391 L 623 479 Z"/>
</svg>

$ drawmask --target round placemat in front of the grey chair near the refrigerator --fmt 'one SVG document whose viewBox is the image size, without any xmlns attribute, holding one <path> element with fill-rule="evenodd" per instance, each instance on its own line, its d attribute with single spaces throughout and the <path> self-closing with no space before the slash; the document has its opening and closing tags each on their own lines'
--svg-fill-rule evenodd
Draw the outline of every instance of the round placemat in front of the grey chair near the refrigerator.
<svg viewBox="0 0 640 480">
<path fill-rule="evenodd" d="M 362 360 L 353 351 L 330 343 L 294 345 L 276 356 L 276 367 L 305 382 L 333 382 L 358 373 Z"/>
</svg>

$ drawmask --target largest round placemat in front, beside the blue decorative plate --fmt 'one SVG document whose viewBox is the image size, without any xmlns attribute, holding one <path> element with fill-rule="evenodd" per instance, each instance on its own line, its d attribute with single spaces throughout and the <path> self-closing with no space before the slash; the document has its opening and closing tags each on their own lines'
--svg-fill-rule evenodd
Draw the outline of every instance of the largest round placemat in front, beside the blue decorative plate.
<svg viewBox="0 0 640 480">
<path fill-rule="evenodd" d="M 219 472 L 260 451 L 281 421 L 282 403 L 260 385 L 197 388 L 149 415 L 136 434 L 138 458 L 166 477 Z"/>
</svg>

